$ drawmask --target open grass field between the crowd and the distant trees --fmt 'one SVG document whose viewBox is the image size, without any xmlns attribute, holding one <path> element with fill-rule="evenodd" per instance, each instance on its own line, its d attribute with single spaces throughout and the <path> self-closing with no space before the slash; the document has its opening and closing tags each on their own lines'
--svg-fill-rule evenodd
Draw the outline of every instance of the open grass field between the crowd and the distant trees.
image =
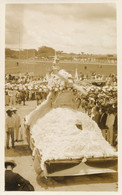
<svg viewBox="0 0 122 195">
<path fill-rule="evenodd" d="M 59 62 L 58 66 L 61 69 L 65 69 L 72 75 L 75 74 L 77 67 L 78 74 L 82 72 L 83 74 L 90 75 L 92 72 L 97 74 L 109 75 L 110 73 L 117 73 L 116 64 L 93 64 L 93 63 L 80 63 L 80 62 Z M 17 60 L 10 59 L 5 61 L 5 73 L 6 74 L 16 74 L 18 72 L 34 72 L 35 76 L 44 76 L 47 72 L 51 70 L 51 61 L 36 61 L 36 60 Z"/>
</svg>

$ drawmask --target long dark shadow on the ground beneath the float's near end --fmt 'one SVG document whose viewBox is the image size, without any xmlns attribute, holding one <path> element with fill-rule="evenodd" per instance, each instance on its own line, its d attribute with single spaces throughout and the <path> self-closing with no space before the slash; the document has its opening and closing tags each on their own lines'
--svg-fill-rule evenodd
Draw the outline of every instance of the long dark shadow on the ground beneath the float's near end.
<svg viewBox="0 0 122 195">
<path fill-rule="evenodd" d="M 44 189 L 50 187 L 63 187 L 63 186 L 73 186 L 73 185 L 87 185 L 87 184 L 100 184 L 100 183 L 114 183 L 118 181 L 117 173 L 104 173 L 104 174 L 94 174 L 94 175 L 83 175 L 83 176 L 73 176 L 73 177 L 52 177 L 44 178 L 37 176 L 37 183 Z M 104 189 L 103 189 L 104 191 Z"/>
</svg>

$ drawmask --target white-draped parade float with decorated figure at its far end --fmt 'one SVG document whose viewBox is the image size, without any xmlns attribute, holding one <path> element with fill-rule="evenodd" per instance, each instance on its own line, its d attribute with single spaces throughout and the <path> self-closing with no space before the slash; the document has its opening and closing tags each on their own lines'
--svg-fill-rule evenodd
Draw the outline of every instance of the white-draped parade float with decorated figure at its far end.
<svg viewBox="0 0 122 195">
<path fill-rule="evenodd" d="M 116 150 L 79 109 L 76 91 L 86 96 L 85 87 L 55 67 L 47 80 L 47 99 L 25 123 L 36 173 L 48 178 L 116 172 Z"/>
</svg>

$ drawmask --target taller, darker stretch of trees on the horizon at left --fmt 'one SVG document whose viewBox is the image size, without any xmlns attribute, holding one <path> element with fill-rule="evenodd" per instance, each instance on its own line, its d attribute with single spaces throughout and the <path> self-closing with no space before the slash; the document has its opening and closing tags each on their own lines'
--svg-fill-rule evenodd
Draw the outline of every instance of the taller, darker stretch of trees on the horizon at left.
<svg viewBox="0 0 122 195">
<path fill-rule="evenodd" d="M 15 59 L 28 59 L 28 58 L 48 58 L 55 55 L 55 50 L 51 47 L 42 46 L 36 49 L 24 49 L 24 50 L 12 50 L 9 48 L 5 49 L 6 58 L 15 58 Z"/>
</svg>

